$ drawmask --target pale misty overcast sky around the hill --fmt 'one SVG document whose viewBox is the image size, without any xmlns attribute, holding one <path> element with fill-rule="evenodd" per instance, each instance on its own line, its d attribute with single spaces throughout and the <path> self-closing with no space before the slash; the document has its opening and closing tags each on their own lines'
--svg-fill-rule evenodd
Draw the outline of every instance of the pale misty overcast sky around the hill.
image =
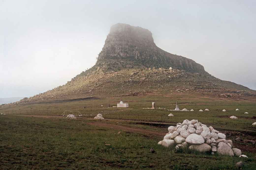
<svg viewBox="0 0 256 170">
<path fill-rule="evenodd" d="M 45 92 L 92 67 L 118 22 L 256 90 L 255 13 L 256 1 L 0 0 L 0 98 Z"/>
</svg>

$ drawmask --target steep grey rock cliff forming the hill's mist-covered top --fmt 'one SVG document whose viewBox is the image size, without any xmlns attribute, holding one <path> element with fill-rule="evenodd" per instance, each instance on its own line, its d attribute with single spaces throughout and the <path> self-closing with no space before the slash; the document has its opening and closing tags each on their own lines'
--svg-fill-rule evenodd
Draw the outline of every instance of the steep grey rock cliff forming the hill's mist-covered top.
<svg viewBox="0 0 256 170">
<path fill-rule="evenodd" d="M 145 67 L 173 67 L 191 72 L 205 72 L 204 67 L 195 61 L 157 47 L 149 30 L 122 23 L 111 27 L 97 63 L 109 59 L 129 60 Z"/>
</svg>

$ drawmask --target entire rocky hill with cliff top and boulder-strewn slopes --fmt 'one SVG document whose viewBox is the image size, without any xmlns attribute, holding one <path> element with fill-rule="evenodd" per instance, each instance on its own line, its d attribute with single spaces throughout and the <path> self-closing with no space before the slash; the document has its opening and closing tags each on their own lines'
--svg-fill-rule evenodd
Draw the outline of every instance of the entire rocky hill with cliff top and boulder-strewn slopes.
<svg viewBox="0 0 256 170">
<path fill-rule="evenodd" d="M 171 68 L 170 68 L 171 67 Z M 213 93 L 222 98 L 256 96 L 255 91 L 208 74 L 195 61 L 170 54 L 141 27 L 111 27 L 97 63 L 65 85 L 20 102 L 159 93 Z"/>
</svg>

